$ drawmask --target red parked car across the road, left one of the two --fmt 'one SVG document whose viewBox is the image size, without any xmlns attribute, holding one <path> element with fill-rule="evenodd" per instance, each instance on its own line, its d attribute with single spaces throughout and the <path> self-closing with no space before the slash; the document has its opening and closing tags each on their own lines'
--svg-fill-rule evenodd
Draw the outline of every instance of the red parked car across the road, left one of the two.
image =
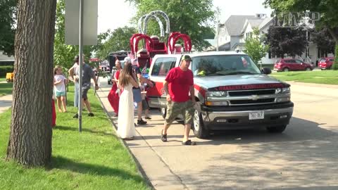
<svg viewBox="0 0 338 190">
<path fill-rule="evenodd" d="M 275 63 L 273 70 L 285 72 L 289 70 L 313 70 L 313 65 L 294 58 L 282 58 Z"/>
</svg>

